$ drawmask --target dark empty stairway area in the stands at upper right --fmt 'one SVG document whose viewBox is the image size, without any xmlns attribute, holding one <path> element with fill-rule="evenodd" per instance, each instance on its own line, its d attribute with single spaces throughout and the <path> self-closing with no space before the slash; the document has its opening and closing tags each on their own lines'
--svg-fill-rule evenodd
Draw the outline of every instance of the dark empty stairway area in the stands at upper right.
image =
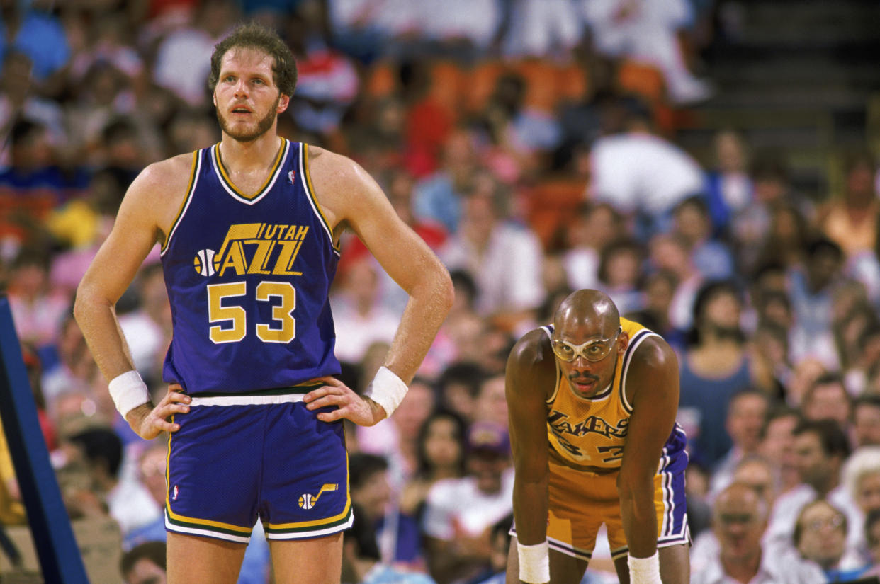
<svg viewBox="0 0 880 584">
<path fill-rule="evenodd" d="M 798 191 L 825 197 L 836 153 L 880 146 L 880 2 L 720 0 L 717 14 L 702 55 L 715 95 L 678 142 L 711 166 L 715 131 L 736 128 L 753 151 L 787 154 Z"/>
</svg>

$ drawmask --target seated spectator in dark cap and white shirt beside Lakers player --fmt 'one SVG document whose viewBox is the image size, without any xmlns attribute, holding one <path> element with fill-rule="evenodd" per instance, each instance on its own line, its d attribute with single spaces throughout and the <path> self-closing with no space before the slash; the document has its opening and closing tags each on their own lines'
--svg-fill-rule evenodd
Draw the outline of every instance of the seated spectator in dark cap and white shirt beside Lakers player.
<svg viewBox="0 0 880 584">
<path fill-rule="evenodd" d="M 437 481 L 426 499 L 422 529 L 429 572 L 439 584 L 469 581 L 491 566 L 492 526 L 512 511 L 507 429 L 474 421 L 467 432 L 466 468 L 465 477 Z"/>
</svg>

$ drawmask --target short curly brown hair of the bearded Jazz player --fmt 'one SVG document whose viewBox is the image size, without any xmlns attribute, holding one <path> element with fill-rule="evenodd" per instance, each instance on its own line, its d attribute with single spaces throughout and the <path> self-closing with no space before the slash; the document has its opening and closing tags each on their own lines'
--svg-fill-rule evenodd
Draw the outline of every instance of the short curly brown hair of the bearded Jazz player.
<svg viewBox="0 0 880 584">
<path fill-rule="evenodd" d="M 275 60 L 272 65 L 275 84 L 282 94 L 288 97 L 293 95 L 293 90 L 297 87 L 297 60 L 290 52 L 290 47 L 274 30 L 255 22 L 237 26 L 214 47 L 211 74 L 208 77 L 211 92 L 220 78 L 220 62 L 223 61 L 226 51 L 233 47 L 254 48 L 271 56 Z"/>
</svg>

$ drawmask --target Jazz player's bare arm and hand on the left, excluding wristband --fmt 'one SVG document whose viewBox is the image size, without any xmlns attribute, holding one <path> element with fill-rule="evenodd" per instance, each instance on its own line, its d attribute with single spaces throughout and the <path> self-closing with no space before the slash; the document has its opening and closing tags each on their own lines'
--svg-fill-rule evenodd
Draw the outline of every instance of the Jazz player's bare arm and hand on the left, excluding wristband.
<svg viewBox="0 0 880 584">
<path fill-rule="evenodd" d="M 173 195 L 178 194 L 180 204 L 180 188 L 186 189 L 186 184 L 176 187 L 181 180 L 188 179 L 188 163 L 183 158 L 186 157 L 152 164 L 138 175 L 122 201 L 113 230 L 77 288 L 74 315 L 107 381 L 135 369 L 116 318 L 115 305 L 161 237 L 160 225 L 172 222 L 167 217 L 176 213 L 176 208 L 170 208 L 175 200 Z M 143 434 L 142 422 L 151 411 L 152 405 L 142 405 L 127 416 L 131 427 L 143 437 L 148 436 Z M 176 411 L 181 410 L 162 416 L 156 434 L 173 429 L 164 419 Z"/>
</svg>

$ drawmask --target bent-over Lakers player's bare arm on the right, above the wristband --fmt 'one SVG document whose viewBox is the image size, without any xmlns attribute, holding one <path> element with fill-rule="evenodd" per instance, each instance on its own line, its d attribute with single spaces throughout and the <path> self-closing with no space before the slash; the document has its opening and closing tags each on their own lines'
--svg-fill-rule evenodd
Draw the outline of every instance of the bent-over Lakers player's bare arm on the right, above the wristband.
<svg viewBox="0 0 880 584">
<path fill-rule="evenodd" d="M 678 412 L 678 361 L 663 339 L 650 337 L 636 349 L 627 374 L 634 388 L 633 415 L 618 477 L 620 514 L 629 554 L 656 551 L 654 475 Z"/>
</svg>

